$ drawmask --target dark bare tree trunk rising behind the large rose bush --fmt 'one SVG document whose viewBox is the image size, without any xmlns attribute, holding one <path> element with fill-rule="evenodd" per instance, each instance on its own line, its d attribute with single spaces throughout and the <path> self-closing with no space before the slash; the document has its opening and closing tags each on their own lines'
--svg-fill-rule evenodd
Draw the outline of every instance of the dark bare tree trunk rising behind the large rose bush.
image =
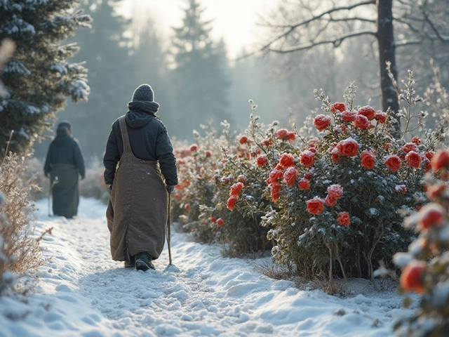
<svg viewBox="0 0 449 337">
<path fill-rule="evenodd" d="M 377 40 L 379 44 L 380 88 L 382 90 L 382 109 L 391 108 L 394 114 L 399 110 L 398 95 L 387 72 L 387 62 L 391 63 L 391 73 L 398 79 L 396 67 L 396 46 L 393 32 L 393 0 L 377 0 Z M 399 121 L 395 125 L 399 130 Z"/>
</svg>

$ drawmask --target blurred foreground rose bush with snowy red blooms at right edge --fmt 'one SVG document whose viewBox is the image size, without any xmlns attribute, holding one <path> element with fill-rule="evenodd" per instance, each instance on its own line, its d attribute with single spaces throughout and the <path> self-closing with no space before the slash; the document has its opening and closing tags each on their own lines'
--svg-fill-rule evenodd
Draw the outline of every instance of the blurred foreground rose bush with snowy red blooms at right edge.
<svg viewBox="0 0 449 337">
<path fill-rule="evenodd" d="M 399 336 L 449 336 L 449 150 L 438 150 L 431 168 L 433 174 L 426 176 L 430 202 L 404 222 L 419 237 L 407 253 L 394 256 L 402 268 L 400 291 L 422 295 L 415 314 L 396 322 Z"/>
</svg>

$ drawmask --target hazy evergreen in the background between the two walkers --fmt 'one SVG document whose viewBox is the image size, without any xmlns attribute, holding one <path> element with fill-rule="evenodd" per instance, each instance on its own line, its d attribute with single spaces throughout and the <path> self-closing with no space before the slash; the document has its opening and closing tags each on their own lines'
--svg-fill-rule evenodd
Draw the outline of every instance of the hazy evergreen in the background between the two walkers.
<svg viewBox="0 0 449 337">
<path fill-rule="evenodd" d="M 80 46 L 74 60 L 85 60 L 91 95 L 87 103 L 70 104 L 58 117 L 72 123 L 87 156 L 102 155 L 114 120 L 127 111 L 135 83 L 131 41 L 123 33 L 130 20 L 117 15 L 120 0 L 86 0 L 83 10 L 93 18 L 92 29 L 76 34 Z"/>
</svg>

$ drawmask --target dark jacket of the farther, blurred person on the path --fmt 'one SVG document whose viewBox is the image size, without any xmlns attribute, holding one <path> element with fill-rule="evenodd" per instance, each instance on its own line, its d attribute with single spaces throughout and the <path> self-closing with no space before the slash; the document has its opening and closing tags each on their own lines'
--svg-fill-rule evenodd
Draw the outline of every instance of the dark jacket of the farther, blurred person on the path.
<svg viewBox="0 0 449 337">
<path fill-rule="evenodd" d="M 65 128 L 58 128 L 56 138 L 48 147 L 43 173 L 48 176 L 54 164 L 72 164 L 79 170 L 83 179 L 86 176 L 83 154 L 76 138 L 70 136 Z"/>
</svg>

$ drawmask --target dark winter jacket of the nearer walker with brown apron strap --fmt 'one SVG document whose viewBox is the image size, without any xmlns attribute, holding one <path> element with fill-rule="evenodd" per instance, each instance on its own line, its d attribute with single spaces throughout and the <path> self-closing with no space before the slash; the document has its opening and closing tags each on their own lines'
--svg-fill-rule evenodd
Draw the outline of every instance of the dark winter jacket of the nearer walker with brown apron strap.
<svg viewBox="0 0 449 337">
<path fill-rule="evenodd" d="M 125 114 L 131 150 L 136 158 L 157 160 L 166 185 L 177 185 L 176 159 L 166 126 L 156 117 L 159 104 L 135 101 L 128 103 Z M 119 119 L 112 124 L 103 157 L 105 184 L 112 185 L 117 163 L 123 154 Z"/>
</svg>

